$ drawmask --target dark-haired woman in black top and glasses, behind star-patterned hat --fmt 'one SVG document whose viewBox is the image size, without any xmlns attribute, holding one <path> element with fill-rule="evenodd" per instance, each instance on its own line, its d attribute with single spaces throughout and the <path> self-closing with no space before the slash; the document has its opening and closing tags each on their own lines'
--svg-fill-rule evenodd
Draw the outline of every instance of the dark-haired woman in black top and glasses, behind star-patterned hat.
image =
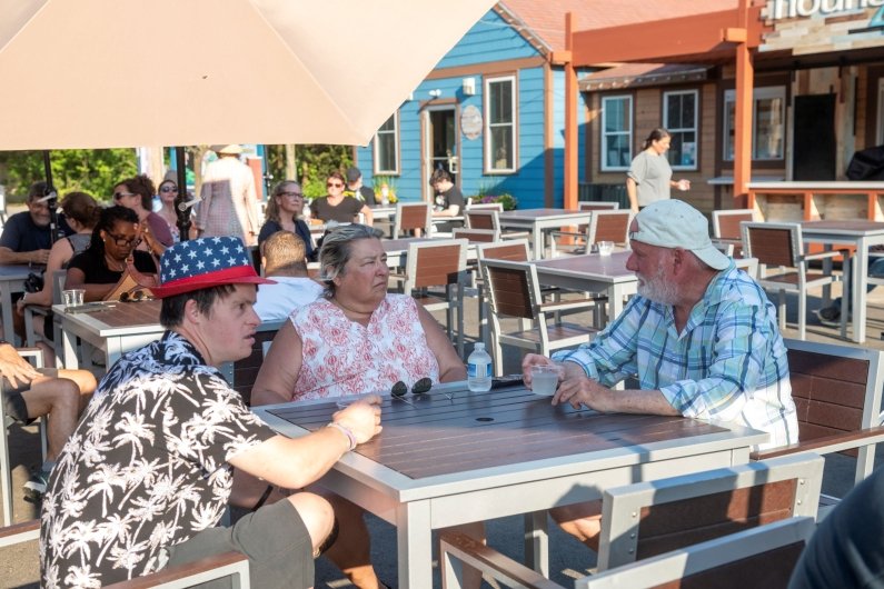
<svg viewBox="0 0 884 589">
<path fill-rule="evenodd" d="M 120 206 L 103 209 L 89 248 L 68 264 L 64 288 L 85 289 L 86 301 L 100 301 L 120 281 L 130 260 L 136 270 L 156 273 L 153 256 L 136 250 L 140 237 L 133 210 Z"/>
</svg>

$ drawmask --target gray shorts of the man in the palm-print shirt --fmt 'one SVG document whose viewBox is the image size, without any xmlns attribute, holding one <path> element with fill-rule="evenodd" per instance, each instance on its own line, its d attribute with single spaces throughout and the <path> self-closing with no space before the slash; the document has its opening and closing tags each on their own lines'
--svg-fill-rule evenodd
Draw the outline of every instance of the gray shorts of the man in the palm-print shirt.
<svg viewBox="0 0 884 589">
<path fill-rule="evenodd" d="M 308 589 L 314 586 L 310 535 L 289 501 L 265 506 L 229 528 L 203 530 L 166 550 L 169 555 L 167 567 L 236 550 L 249 558 L 251 587 Z M 229 589 L 232 585 L 228 578 L 197 587 Z"/>
</svg>

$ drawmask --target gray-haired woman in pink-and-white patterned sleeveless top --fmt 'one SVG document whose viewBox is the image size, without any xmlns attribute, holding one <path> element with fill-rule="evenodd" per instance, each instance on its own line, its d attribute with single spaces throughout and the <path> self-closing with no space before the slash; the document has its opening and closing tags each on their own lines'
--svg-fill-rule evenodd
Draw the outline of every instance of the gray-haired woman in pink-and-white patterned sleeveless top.
<svg viewBox="0 0 884 589">
<path fill-rule="evenodd" d="M 279 329 L 255 380 L 252 405 L 390 391 L 398 381 L 419 390 L 415 385 L 425 378 L 434 383 L 466 379 L 464 362 L 433 316 L 411 297 L 387 292 L 389 269 L 379 236 L 361 224 L 326 236 L 319 251 L 325 294 L 292 312 Z M 267 485 L 252 489 L 252 497 Z M 237 486 L 234 492 L 242 497 Z M 356 587 L 378 587 L 362 510 L 319 492 L 335 507 L 340 528 L 326 556 Z M 481 527 L 467 531 L 481 535 Z"/>
</svg>

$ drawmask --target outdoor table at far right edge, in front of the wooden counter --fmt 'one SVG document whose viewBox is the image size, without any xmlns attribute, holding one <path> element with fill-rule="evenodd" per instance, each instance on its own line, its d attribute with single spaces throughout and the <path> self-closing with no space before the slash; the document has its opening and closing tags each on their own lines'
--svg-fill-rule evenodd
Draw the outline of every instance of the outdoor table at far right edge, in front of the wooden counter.
<svg viewBox="0 0 884 589">
<path fill-rule="evenodd" d="M 884 246 L 884 222 L 844 220 L 844 221 L 804 221 L 801 227 L 802 239 L 809 243 L 822 243 L 827 248 L 835 244 L 855 246 L 853 253 L 853 277 L 851 284 L 844 284 L 844 300 L 851 298 L 853 318 L 853 341 L 865 341 L 866 322 L 866 284 L 868 283 L 868 248 Z M 848 263 L 850 260 L 845 260 Z M 843 312 L 843 311 L 842 311 Z M 846 326 L 841 336 L 847 337 Z"/>
</svg>

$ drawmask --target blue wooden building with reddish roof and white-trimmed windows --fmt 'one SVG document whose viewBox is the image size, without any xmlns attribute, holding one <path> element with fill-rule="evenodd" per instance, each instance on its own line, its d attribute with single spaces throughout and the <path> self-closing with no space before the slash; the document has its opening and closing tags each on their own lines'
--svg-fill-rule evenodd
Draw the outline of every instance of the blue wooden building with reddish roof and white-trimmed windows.
<svg viewBox="0 0 884 589">
<path fill-rule="evenodd" d="M 403 101 L 371 143 L 356 148 L 365 183 L 388 177 L 401 200 L 430 200 L 429 176 L 443 167 L 465 197 L 507 192 L 522 209 L 562 207 L 565 13 L 579 14 L 587 4 L 594 2 L 496 4 Z M 407 53 L 403 48 L 403 59 Z M 578 111 L 583 128 L 587 110 Z M 583 161 L 584 149 L 578 149 Z M 580 174 L 584 168 L 578 166 Z"/>
</svg>

